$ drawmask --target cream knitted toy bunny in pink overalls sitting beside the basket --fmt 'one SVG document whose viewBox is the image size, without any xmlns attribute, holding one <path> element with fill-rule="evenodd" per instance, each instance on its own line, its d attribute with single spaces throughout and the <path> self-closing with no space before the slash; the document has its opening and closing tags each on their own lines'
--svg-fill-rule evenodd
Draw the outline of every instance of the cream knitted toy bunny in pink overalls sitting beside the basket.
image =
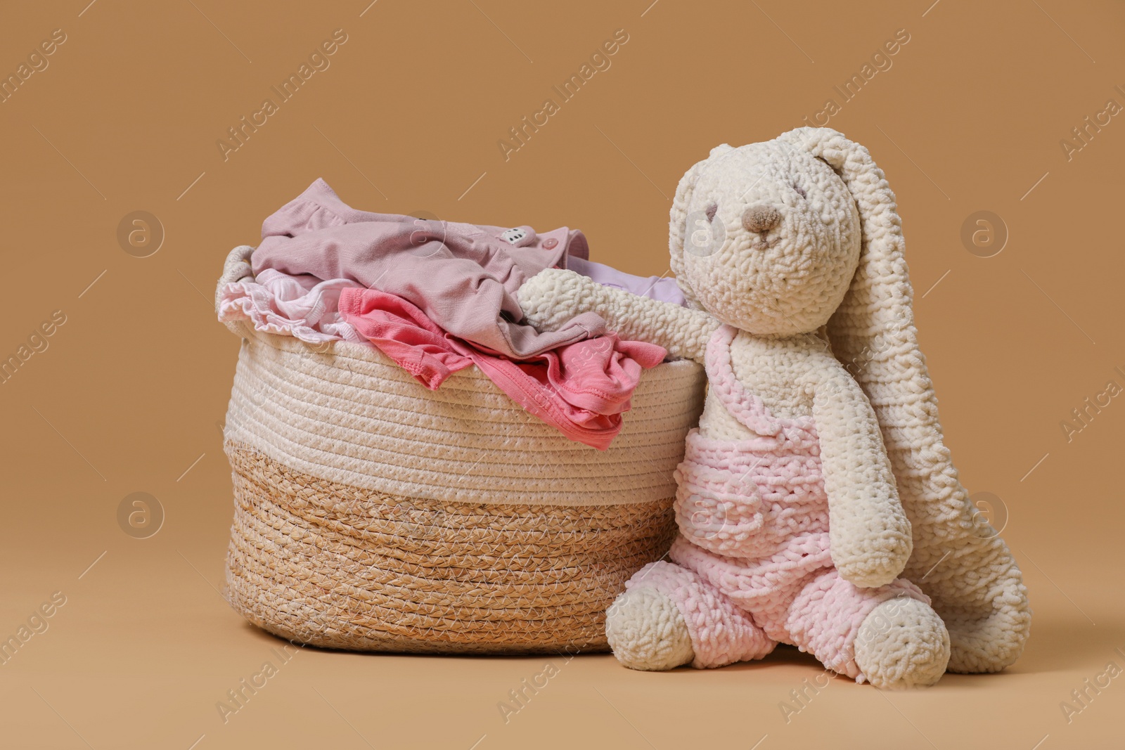
<svg viewBox="0 0 1125 750">
<path fill-rule="evenodd" d="M 559 269 L 520 289 L 537 327 L 593 310 L 706 368 L 669 561 L 606 613 L 626 666 L 719 667 L 790 643 L 900 688 L 1023 651 L 1026 589 L 943 445 L 902 246 L 867 150 L 798 128 L 721 145 L 681 180 L 672 270 L 691 308 Z"/>
</svg>

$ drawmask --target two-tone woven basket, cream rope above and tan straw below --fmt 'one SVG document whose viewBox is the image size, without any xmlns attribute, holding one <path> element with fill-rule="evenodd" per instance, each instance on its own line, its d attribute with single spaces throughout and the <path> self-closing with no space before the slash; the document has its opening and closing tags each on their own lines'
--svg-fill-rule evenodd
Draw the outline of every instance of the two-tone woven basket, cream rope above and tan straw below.
<svg viewBox="0 0 1125 750">
<path fill-rule="evenodd" d="M 216 305 L 251 251 L 227 257 Z M 597 451 L 475 367 L 429 390 L 374 346 L 227 326 L 242 337 L 224 430 L 237 612 L 339 649 L 606 650 L 605 609 L 672 541 L 702 368 L 645 371 Z"/>
</svg>

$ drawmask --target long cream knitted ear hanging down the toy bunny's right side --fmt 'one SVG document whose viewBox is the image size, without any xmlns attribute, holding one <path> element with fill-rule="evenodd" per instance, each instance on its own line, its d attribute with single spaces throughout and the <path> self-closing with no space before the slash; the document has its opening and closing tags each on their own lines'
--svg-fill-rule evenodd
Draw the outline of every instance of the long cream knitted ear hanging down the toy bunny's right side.
<svg viewBox="0 0 1125 750">
<path fill-rule="evenodd" d="M 903 577 L 928 594 L 950 631 L 952 671 L 998 671 L 1019 657 L 1030 626 L 1019 569 L 957 480 L 918 347 L 914 290 L 894 193 L 867 150 L 829 128 L 778 141 L 824 160 L 860 211 L 860 265 L 828 322 L 832 353 L 874 407 L 899 498 L 914 530 Z"/>
</svg>

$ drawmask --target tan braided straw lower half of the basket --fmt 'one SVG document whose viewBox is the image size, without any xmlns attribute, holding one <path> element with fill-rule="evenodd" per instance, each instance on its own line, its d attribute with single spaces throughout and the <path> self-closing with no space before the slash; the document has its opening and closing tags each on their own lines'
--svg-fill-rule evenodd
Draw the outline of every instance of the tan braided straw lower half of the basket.
<svg viewBox="0 0 1125 750">
<path fill-rule="evenodd" d="M 227 596 L 318 647 L 402 652 L 608 650 L 605 611 L 668 549 L 672 498 L 488 504 L 387 495 L 225 444 Z"/>
</svg>

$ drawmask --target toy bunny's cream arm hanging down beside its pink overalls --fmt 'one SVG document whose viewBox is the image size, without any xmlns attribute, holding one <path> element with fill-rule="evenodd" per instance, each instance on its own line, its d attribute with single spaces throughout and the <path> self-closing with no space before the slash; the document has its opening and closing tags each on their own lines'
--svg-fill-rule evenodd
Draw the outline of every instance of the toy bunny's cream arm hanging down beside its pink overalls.
<svg viewBox="0 0 1125 750">
<path fill-rule="evenodd" d="M 825 365 L 814 386 L 812 416 L 828 495 L 832 563 L 856 586 L 883 586 L 910 558 L 910 522 L 871 403 L 836 360 Z"/>
</svg>

